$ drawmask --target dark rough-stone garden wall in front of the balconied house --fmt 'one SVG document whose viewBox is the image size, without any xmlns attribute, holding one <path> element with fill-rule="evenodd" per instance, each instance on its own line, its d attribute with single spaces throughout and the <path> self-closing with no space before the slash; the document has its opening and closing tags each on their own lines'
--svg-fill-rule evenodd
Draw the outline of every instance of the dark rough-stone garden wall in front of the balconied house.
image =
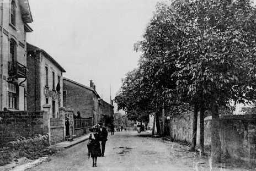
<svg viewBox="0 0 256 171">
<path fill-rule="evenodd" d="M 31 137 L 47 134 L 44 125 L 44 112 L 0 112 L 0 146 L 18 137 Z"/>
</svg>

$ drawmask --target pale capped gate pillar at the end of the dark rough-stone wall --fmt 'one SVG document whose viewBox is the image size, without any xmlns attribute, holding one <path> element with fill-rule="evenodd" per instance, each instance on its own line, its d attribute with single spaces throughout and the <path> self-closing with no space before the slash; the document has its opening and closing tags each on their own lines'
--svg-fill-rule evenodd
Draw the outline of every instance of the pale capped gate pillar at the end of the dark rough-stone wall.
<svg viewBox="0 0 256 171">
<path fill-rule="evenodd" d="M 51 145 L 51 117 L 50 117 L 50 104 L 44 104 L 42 106 L 44 109 L 44 134 L 49 134 L 49 145 Z"/>
</svg>

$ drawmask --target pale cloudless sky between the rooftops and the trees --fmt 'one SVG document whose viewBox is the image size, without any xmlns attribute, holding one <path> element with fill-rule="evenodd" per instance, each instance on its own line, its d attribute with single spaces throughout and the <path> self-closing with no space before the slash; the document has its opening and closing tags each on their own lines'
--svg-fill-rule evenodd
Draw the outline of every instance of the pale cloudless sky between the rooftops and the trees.
<svg viewBox="0 0 256 171">
<path fill-rule="evenodd" d="M 44 49 L 65 70 L 64 77 L 89 86 L 110 102 L 121 79 L 136 68 L 156 0 L 30 0 L 34 30 L 27 42 Z"/>
</svg>

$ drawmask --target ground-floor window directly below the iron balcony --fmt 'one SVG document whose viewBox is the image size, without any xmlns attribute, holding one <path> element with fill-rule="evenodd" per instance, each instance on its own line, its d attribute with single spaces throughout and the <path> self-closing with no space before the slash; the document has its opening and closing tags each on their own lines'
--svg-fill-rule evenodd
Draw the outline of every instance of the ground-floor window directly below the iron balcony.
<svg viewBox="0 0 256 171">
<path fill-rule="evenodd" d="M 17 85 L 8 82 L 8 108 L 17 109 Z"/>
</svg>

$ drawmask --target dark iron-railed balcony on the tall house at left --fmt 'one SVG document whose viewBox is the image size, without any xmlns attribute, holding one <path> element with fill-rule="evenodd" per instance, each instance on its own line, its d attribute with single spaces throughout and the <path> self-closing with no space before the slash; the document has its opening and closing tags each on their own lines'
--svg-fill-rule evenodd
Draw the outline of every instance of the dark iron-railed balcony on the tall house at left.
<svg viewBox="0 0 256 171">
<path fill-rule="evenodd" d="M 18 62 L 8 62 L 9 78 L 26 78 L 26 67 Z"/>
</svg>

